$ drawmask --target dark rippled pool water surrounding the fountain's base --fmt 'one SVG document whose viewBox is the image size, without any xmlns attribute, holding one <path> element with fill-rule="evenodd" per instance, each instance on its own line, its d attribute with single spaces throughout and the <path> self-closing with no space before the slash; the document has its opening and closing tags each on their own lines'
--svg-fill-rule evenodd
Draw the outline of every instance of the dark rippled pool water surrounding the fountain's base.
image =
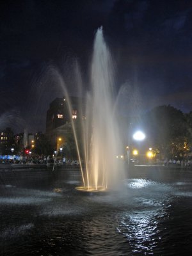
<svg viewBox="0 0 192 256">
<path fill-rule="evenodd" d="M 85 196 L 78 170 L 0 171 L 0 255 L 192 255 L 192 171 L 138 168 Z"/>
</svg>

